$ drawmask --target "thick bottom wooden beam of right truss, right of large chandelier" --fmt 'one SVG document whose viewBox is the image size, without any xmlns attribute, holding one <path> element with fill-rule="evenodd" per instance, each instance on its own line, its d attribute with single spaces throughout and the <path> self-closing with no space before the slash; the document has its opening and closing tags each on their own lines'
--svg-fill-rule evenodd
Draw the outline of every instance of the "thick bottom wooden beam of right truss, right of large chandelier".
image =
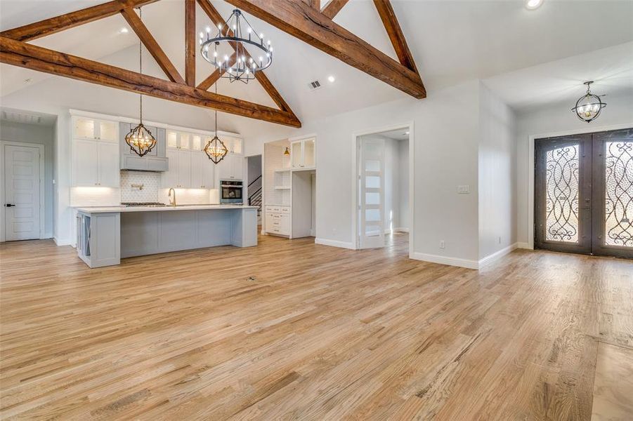
<svg viewBox="0 0 633 421">
<path fill-rule="evenodd" d="M 227 1 L 414 98 L 426 98 L 426 89 L 419 74 L 370 46 L 302 0 Z"/>
</svg>

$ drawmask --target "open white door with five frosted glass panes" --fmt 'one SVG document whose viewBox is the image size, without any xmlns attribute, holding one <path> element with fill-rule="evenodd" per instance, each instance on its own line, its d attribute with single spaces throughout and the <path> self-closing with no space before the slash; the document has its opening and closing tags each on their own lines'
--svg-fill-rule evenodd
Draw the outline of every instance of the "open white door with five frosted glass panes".
<svg viewBox="0 0 633 421">
<path fill-rule="evenodd" d="M 358 237 L 360 248 L 384 246 L 384 140 L 360 139 Z"/>
</svg>

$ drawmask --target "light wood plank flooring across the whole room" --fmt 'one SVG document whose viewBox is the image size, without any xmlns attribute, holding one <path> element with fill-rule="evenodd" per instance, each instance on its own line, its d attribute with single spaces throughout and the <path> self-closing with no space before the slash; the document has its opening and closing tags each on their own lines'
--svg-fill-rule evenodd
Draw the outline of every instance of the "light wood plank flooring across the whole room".
<svg viewBox="0 0 633 421">
<path fill-rule="evenodd" d="M 0 417 L 589 420 L 599 344 L 633 348 L 631 261 L 260 241 L 102 269 L 0 245 Z"/>
</svg>

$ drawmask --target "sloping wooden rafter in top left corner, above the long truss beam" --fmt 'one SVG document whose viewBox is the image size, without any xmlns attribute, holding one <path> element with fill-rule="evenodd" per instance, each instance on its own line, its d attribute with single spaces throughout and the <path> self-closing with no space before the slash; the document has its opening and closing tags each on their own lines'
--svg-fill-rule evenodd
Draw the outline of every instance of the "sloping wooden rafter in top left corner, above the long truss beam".
<svg viewBox="0 0 633 421">
<path fill-rule="evenodd" d="M 89 8 L 83 8 L 79 11 L 66 13 L 65 15 L 56 16 L 55 18 L 40 20 L 21 27 L 8 29 L 0 32 L 0 36 L 15 39 L 17 41 L 32 41 L 42 36 L 54 34 L 84 23 L 94 22 L 95 20 L 107 18 L 108 16 L 121 13 L 126 8 L 140 7 L 145 4 L 153 3 L 157 0 L 115 0 L 108 1 L 104 4 L 98 4 Z"/>
</svg>

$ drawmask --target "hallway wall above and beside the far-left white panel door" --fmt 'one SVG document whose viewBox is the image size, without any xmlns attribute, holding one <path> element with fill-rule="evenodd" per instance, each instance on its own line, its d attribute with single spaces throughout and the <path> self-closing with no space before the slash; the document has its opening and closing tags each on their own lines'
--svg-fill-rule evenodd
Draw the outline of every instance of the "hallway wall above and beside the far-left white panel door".
<svg viewBox="0 0 633 421">
<path fill-rule="evenodd" d="M 53 135 L 52 126 L 0 121 L 0 140 L 44 145 L 44 185 L 41 188 L 44 189 L 45 238 L 53 237 Z M 4 171 L 4 162 L 0 163 L 0 168 Z"/>
</svg>

